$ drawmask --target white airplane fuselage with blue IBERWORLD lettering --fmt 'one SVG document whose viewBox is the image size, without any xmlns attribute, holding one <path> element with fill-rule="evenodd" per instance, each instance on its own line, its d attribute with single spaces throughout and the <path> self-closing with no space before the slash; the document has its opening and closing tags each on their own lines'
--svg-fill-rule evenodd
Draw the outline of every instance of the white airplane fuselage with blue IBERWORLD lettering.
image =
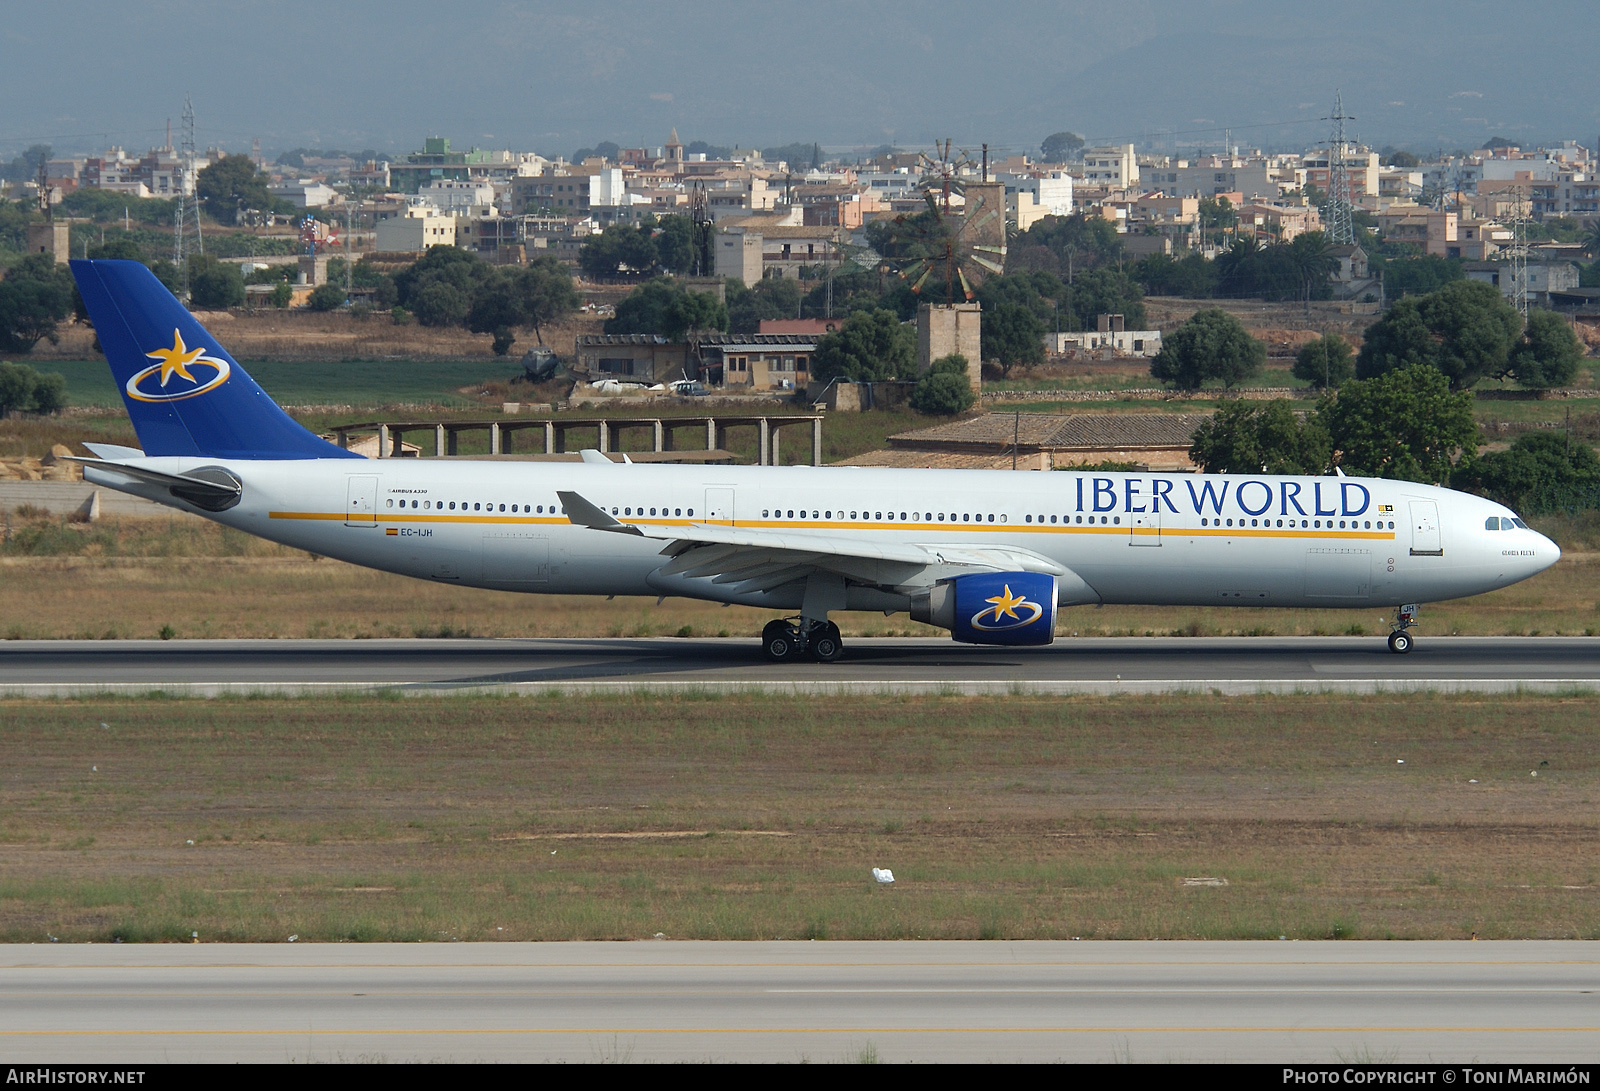
<svg viewBox="0 0 1600 1091">
<path fill-rule="evenodd" d="M 557 490 L 622 523 L 739 526 L 949 547 L 1008 547 L 1072 569 L 1104 603 L 1362 606 L 1493 590 L 1560 549 L 1491 501 L 1410 482 L 589 462 L 141 459 L 224 467 L 237 507 L 200 512 L 251 534 L 419 579 L 536 593 L 694 595 L 798 608 L 798 587 L 728 593 L 653 579 L 664 542 L 574 526 Z M 102 480 L 90 464 L 88 480 Z M 1486 530 L 1490 518 L 1510 530 Z M 904 609 L 853 587 L 850 609 Z M 1083 601 L 1077 598 L 1074 601 Z"/>
</svg>

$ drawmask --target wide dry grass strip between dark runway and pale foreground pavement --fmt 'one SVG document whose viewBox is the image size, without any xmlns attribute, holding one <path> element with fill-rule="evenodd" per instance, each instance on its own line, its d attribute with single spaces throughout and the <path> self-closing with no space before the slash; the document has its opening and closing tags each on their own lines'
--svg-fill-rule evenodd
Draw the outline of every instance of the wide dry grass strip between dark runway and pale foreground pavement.
<svg viewBox="0 0 1600 1091">
<path fill-rule="evenodd" d="M 1600 937 L 1589 699 L 152 699 L 0 720 L 6 941 Z"/>
</svg>

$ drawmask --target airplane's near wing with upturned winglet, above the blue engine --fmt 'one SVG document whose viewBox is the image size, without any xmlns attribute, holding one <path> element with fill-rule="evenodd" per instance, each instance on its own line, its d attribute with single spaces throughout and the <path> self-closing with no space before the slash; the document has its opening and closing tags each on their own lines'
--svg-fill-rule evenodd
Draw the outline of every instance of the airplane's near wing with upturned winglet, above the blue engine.
<svg viewBox="0 0 1600 1091">
<path fill-rule="evenodd" d="M 613 518 L 578 493 L 557 493 L 566 517 L 579 525 L 664 542 L 670 557 L 661 576 L 709 579 L 734 593 L 754 593 L 802 581 L 813 573 L 843 576 L 883 589 L 928 587 L 962 569 L 1030 571 L 1075 581 L 1056 561 L 1026 549 L 989 549 L 922 542 L 877 542 L 864 536 L 766 531 L 752 526 L 637 526 Z"/>
</svg>

